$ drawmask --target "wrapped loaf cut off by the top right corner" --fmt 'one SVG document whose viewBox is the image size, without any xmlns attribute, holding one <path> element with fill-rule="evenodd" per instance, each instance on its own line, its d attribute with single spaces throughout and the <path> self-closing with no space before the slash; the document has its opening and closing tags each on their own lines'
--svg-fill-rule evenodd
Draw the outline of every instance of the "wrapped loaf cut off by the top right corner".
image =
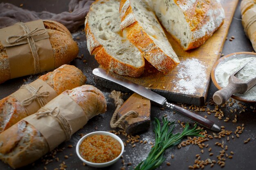
<svg viewBox="0 0 256 170">
<path fill-rule="evenodd" d="M 256 51 L 256 0 L 242 0 L 241 15 L 245 33 Z"/>
</svg>

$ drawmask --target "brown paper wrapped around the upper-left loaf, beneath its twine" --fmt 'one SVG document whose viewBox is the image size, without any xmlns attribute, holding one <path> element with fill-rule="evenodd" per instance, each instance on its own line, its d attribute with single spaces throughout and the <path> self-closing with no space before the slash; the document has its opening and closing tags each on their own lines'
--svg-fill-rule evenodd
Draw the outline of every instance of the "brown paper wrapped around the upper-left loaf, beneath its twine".
<svg viewBox="0 0 256 170">
<path fill-rule="evenodd" d="M 36 28 L 45 29 L 42 20 L 26 22 L 25 25 L 29 27 L 30 31 Z M 24 30 L 19 25 L 0 29 L 0 41 L 8 55 L 11 78 L 34 74 L 34 58 L 27 40 L 9 44 L 6 40 L 7 37 L 12 35 L 24 35 Z M 33 39 L 38 48 L 40 70 L 47 71 L 54 69 L 54 55 L 48 33 L 33 36 Z"/>
</svg>

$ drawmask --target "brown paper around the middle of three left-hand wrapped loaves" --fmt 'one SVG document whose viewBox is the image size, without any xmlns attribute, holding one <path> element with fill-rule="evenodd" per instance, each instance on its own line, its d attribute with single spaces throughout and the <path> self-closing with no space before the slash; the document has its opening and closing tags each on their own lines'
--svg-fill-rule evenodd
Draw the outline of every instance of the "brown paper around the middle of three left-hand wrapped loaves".
<svg viewBox="0 0 256 170">
<path fill-rule="evenodd" d="M 47 102 L 50 102 L 52 99 L 54 99 L 54 97 L 58 96 L 56 91 L 51 86 L 49 86 L 49 84 L 47 84 L 41 79 L 37 79 L 34 82 L 30 83 L 29 85 L 33 86 L 35 89 L 38 89 L 40 86 L 43 86 L 38 91 L 39 93 L 49 91 L 49 96 L 45 97 Z M 31 92 L 29 92 L 26 88 L 20 88 L 18 91 L 12 93 L 10 96 L 16 98 L 21 103 L 23 100 L 31 97 L 31 95 L 32 95 Z M 31 104 L 29 104 L 29 106 L 25 107 L 25 110 L 27 115 L 31 115 L 36 113 L 37 110 L 39 110 L 40 108 L 41 107 L 38 104 L 38 102 L 34 100 Z"/>
</svg>

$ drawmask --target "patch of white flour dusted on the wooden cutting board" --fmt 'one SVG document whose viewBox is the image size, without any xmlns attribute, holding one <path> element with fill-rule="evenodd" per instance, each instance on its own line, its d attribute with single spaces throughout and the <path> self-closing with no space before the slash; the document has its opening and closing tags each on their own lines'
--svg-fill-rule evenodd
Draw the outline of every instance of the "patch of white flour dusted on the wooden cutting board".
<svg viewBox="0 0 256 170">
<path fill-rule="evenodd" d="M 191 95 L 196 93 L 196 88 L 204 88 L 207 83 L 206 69 L 207 66 L 202 64 L 198 59 L 187 59 L 178 66 L 176 87 L 174 91 Z"/>
</svg>

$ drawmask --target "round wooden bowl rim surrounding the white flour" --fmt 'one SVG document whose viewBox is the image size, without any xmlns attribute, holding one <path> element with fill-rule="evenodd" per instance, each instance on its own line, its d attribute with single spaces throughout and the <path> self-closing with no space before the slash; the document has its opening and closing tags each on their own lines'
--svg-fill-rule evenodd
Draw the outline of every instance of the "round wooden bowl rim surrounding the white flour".
<svg viewBox="0 0 256 170">
<path fill-rule="evenodd" d="M 238 52 L 238 53 L 231 53 L 228 55 L 225 55 L 224 57 L 221 57 L 219 60 L 217 60 L 217 62 L 213 65 L 213 68 L 211 69 L 211 79 L 213 81 L 213 84 L 220 90 L 222 89 L 222 87 L 220 87 L 220 85 L 218 84 L 216 77 L 215 77 L 215 70 L 218 66 L 218 64 L 220 64 L 223 60 L 225 60 L 225 58 L 227 57 L 238 57 L 239 55 L 241 55 L 241 58 L 246 58 L 246 57 L 256 57 L 256 53 L 252 53 L 252 52 Z M 247 55 L 247 56 L 245 56 Z M 245 102 L 245 103 L 256 103 L 255 101 L 252 100 L 246 100 L 242 97 L 238 97 L 235 95 L 232 95 L 231 98 L 236 99 L 240 102 Z"/>
</svg>

